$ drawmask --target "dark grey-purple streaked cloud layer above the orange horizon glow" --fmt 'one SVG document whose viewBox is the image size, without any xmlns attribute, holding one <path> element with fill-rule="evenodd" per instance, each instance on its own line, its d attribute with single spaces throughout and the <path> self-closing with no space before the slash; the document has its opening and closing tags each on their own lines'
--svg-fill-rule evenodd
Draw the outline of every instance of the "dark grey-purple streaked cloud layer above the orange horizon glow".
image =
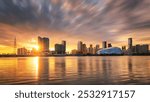
<svg viewBox="0 0 150 102">
<path fill-rule="evenodd" d="M 0 23 L 107 39 L 149 29 L 149 11 L 149 0 L 0 0 Z"/>
</svg>

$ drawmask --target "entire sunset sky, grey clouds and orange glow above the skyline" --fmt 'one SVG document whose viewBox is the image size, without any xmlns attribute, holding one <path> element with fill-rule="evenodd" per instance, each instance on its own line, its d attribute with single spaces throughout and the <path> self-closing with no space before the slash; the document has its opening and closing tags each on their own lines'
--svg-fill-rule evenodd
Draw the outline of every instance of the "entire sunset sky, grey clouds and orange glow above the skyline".
<svg viewBox="0 0 150 102">
<path fill-rule="evenodd" d="M 50 47 L 67 41 L 113 46 L 150 44 L 150 0 L 0 0 L 0 53 L 31 49 L 37 37 L 49 37 Z"/>
</svg>

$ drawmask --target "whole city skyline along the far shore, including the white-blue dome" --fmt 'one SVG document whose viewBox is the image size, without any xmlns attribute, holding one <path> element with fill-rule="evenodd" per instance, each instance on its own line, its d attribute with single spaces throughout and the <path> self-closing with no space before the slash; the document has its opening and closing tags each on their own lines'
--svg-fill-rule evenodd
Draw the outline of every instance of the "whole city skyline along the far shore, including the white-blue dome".
<svg viewBox="0 0 150 102">
<path fill-rule="evenodd" d="M 12 55 L 141 55 L 150 53 L 149 44 L 134 44 L 133 38 L 128 38 L 127 46 L 122 46 L 121 48 L 113 46 L 112 43 L 108 41 L 101 42 L 101 47 L 99 44 L 94 46 L 93 44 L 90 44 L 90 46 L 87 46 L 86 43 L 78 41 L 76 45 L 77 49 L 72 49 L 70 52 L 66 50 L 68 43 L 65 40 L 62 40 L 61 44 L 55 43 L 54 50 L 49 48 L 49 38 L 38 36 L 37 40 L 37 49 L 32 48 L 32 50 L 29 50 L 25 47 L 17 48 L 15 38 L 14 53 Z"/>
</svg>

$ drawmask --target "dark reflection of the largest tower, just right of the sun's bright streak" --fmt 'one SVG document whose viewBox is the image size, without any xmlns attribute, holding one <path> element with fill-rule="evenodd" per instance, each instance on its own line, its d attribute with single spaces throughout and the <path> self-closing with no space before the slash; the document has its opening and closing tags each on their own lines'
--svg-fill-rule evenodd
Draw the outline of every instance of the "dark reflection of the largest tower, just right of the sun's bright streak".
<svg viewBox="0 0 150 102">
<path fill-rule="evenodd" d="M 38 58 L 38 84 L 48 84 L 49 58 Z"/>
</svg>

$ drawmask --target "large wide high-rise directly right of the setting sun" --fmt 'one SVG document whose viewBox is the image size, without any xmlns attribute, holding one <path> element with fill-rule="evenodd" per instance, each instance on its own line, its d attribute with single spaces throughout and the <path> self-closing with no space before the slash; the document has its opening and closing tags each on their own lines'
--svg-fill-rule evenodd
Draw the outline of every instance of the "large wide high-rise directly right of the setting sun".
<svg viewBox="0 0 150 102">
<path fill-rule="evenodd" d="M 49 38 L 38 37 L 38 46 L 40 52 L 49 52 Z"/>
</svg>

